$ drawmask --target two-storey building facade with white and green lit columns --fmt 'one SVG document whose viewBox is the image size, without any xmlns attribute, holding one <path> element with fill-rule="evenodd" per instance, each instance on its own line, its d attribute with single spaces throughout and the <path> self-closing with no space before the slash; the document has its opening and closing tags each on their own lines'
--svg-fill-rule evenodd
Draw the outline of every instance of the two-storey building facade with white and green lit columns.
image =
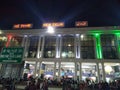
<svg viewBox="0 0 120 90">
<path fill-rule="evenodd" d="M 54 34 L 46 31 L 1 30 L 0 50 L 5 46 L 24 47 L 21 76 L 44 74 L 45 78 L 64 76 L 94 81 L 120 77 L 119 27 L 55 28 Z M 1 63 L 4 76 L 14 75 L 14 66 L 8 65 L 7 71 L 3 66 Z"/>
</svg>

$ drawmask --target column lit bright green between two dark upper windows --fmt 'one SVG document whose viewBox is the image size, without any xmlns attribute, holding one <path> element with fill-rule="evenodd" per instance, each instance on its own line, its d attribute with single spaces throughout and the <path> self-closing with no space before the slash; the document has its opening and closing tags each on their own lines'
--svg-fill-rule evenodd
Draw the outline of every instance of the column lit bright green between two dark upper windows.
<svg viewBox="0 0 120 90">
<path fill-rule="evenodd" d="M 101 48 L 101 40 L 100 40 L 100 34 L 95 33 L 95 46 L 96 46 L 96 58 L 97 59 L 102 59 L 102 48 Z"/>
</svg>

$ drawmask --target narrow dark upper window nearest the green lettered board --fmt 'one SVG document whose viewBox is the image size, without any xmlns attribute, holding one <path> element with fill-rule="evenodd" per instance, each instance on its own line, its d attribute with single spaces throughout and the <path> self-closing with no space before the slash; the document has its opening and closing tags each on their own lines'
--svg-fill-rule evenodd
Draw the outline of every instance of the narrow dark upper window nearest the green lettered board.
<svg viewBox="0 0 120 90">
<path fill-rule="evenodd" d="M 29 48 L 28 48 L 28 57 L 35 58 L 38 49 L 39 36 L 29 37 Z"/>
</svg>

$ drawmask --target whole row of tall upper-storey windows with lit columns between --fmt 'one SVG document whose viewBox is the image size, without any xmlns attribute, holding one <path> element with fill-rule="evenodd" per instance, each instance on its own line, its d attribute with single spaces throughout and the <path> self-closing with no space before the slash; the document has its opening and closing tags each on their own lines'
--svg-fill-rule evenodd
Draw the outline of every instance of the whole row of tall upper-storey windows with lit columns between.
<svg viewBox="0 0 120 90">
<path fill-rule="evenodd" d="M 24 46 L 28 58 L 83 58 L 95 59 L 102 52 L 104 59 L 118 59 L 118 40 L 113 34 L 100 35 L 100 41 L 94 35 L 64 36 L 8 36 L 0 37 L 0 50 L 4 46 Z M 101 47 L 97 51 L 96 47 Z M 100 45 L 100 46 L 99 46 Z M 97 53 L 98 52 L 98 53 Z"/>
</svg>

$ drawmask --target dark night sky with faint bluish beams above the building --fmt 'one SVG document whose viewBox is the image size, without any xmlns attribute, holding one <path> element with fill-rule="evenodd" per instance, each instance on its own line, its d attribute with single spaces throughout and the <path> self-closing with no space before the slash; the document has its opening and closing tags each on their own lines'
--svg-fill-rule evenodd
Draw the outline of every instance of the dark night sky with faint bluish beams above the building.
<svg viewBox="0 0 120 90">
<path fill-rule="evenodd" d="M 88 21 L 93 26 L 120 25 L 119 0 L 0 0 L 0 28 L 11 29 L 16 23 Z"/>
</svg>

